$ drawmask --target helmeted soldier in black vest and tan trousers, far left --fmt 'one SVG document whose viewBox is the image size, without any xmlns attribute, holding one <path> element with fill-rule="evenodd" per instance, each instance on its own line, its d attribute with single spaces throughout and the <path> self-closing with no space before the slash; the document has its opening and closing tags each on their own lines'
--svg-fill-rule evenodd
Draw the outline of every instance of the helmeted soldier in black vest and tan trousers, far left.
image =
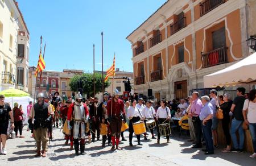
<svg viewBox="0 0 256 166">
<path fill-rule="evenodd" d="M 32 123 L 32 119 L 34 120 L 34 138 L 36 140 L 36 157 L 41 155 L 40 148 L 42 142 L 42 157 L 46 157 L 46 146 L 48 140 L 48 126 L 52 119 L 52 110 L 48 103 L 44 102 L 44 94 L 39 93 L 36 96 L 38 100 L 34 106 L 31 108 L 30 120 L 28 121 L 30 124 Z"/>
</svg>

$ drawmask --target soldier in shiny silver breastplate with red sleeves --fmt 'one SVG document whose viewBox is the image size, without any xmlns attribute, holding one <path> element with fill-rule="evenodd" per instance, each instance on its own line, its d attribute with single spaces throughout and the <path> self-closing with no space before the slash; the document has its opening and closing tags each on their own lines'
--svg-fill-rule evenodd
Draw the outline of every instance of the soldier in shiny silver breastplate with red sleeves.
<svg viewBox="0 0 256 166">
<path fill-rule="evenodd" d="M 84 155 L 85 149 L 85 127 L 89 119 L 89 111 L 85 103 L 82 103 L 80 92 L 76 94 L 76 101 L 68 109 L 68 128 L 73 129 L 73 140 L 76 155 L 79 155 L 79 136 L 80 136 L 80 153 Z"/>
</svg>

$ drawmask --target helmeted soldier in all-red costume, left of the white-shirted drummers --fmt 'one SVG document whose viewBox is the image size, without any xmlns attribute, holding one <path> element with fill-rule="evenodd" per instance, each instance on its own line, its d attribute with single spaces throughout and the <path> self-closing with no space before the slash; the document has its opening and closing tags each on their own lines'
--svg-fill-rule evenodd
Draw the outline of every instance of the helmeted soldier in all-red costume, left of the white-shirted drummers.
<svg viewBox="0 0 256 166">
<path fill-rule="evenodd" d="M 118 145 L 122 126 L 121 113 L 123 114 L 123 117 L 126 119 L 124 106 L 125 105 L 123 104 L 123 101 L 119 99 L 119 91 L 115 89 L 113 92 L 112 99 L 110 99 L 107 103 L 108 117 L 110 122 L 110 132 L 112 134 L 112 151 L 115 150 L 115 143 L 117 144 L 116 149 L 122 150 Z"/>
</svg>

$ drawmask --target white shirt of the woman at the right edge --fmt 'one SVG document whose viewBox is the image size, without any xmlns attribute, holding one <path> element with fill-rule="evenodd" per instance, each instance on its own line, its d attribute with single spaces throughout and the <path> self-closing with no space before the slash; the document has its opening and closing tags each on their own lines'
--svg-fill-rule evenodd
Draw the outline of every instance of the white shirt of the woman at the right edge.
<svg viewBox="0 0 256 166">
<path fill-rule="evenodd" d="M 246 99 L 243 103 L 243 110 L 248 109 L 247 113 L 247 120 L 250 123 L 256 123 L 256 103 L 255 102 L 249 102 L 249 99 Z M 248 107 L 249 105 L 249 107 Z"/>
</svg>

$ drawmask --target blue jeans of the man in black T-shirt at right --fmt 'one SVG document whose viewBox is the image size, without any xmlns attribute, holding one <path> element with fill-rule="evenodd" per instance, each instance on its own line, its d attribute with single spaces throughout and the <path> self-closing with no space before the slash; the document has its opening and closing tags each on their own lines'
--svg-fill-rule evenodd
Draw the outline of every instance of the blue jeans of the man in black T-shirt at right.
<svg viewBox="0 0 256 166">
<path fill-rule="evenodd" d="M 243 143 L 245 142 L 245 135 L 242 128 L 243 121 L 238 121 L 236 118 L 232 119 L 231 127 L 230 127 L 230 135 L 233 142 L 233 147 L 235 149 L 243 150 Z M 237 142 L 236 131 L 239 133 L 239 145 Z"/>
</svg>

